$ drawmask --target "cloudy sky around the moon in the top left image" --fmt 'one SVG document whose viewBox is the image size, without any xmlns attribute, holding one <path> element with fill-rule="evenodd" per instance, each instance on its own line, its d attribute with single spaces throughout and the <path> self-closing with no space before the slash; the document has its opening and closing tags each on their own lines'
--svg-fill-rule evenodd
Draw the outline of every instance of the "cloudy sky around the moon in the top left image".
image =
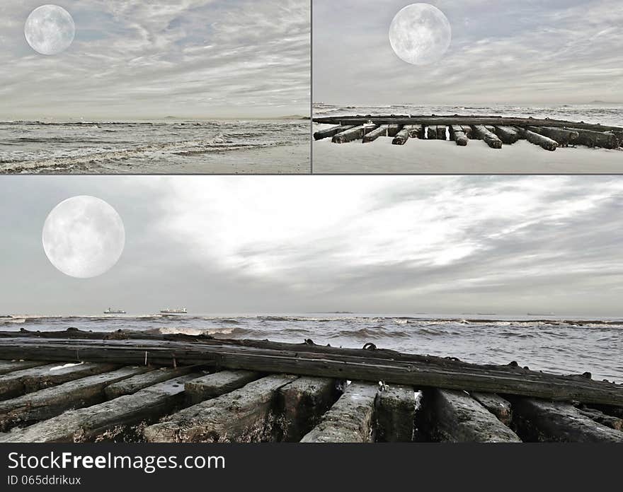
<svg viewBox="0 0 623 492">
<path fill-rule="evenodd" d="M 0 2 L 0 119 L 309 115 L 309 0 L 62 0 L 76 37 L 33 51 L 40 0 Z"/>
</svg>

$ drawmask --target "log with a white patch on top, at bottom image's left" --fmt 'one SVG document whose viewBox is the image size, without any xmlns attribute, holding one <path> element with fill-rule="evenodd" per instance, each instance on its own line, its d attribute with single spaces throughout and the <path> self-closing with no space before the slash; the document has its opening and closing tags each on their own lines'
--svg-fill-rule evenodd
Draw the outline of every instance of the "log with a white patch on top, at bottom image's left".
<svg viewBox="0 0 623 492">
<path fill-rule="evenodd" d="M 0 400 L 14 398 L 49 386 L 79 379 L 80 377 L 106 373 L 119 368 L 113 364 L 48 364 L 35 368 L 17 370 L 0 376 Z"/>
</svg>

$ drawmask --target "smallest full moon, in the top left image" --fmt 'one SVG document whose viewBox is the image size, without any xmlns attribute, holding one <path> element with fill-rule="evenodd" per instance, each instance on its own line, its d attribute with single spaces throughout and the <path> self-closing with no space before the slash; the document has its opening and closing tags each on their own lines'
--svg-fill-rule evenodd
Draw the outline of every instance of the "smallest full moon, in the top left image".
<svg viewBox="0 0 623 492">
<path fill-rule="evenodd" d="M 30 47 L 40 54 L 59 54 L 74 41 L 76 25 L 64 8 L 42 5 L 28 16 L 24 35 Z"/>
</svg>

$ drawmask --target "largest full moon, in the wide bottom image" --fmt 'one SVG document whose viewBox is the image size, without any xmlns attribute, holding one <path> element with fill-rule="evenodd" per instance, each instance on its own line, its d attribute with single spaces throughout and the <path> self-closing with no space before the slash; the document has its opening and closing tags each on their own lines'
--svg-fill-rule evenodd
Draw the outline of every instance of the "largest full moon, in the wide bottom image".
<svg viewBox="0 0 623 492">
<path fill-rule="evenodd" d="M 110 270 L 123 252 L 121 217 L 105 201 L 73 197 L 50 212 L 43 225 L 43 249 L 64 274 L 90 279 Z"/>
</svg>

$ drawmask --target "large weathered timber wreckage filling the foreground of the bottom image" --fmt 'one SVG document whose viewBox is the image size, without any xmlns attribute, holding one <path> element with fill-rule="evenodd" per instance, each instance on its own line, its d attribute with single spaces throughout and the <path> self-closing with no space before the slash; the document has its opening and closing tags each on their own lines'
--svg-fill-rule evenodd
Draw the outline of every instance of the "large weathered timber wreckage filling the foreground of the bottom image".
<svg viewBox="0 0 623 492">
<path fill-rule="evenodd" d="M 517 363 L 76 329 L 0 358 L 0 442 L 623 442 L 622 385 Z"/>
</svg>

